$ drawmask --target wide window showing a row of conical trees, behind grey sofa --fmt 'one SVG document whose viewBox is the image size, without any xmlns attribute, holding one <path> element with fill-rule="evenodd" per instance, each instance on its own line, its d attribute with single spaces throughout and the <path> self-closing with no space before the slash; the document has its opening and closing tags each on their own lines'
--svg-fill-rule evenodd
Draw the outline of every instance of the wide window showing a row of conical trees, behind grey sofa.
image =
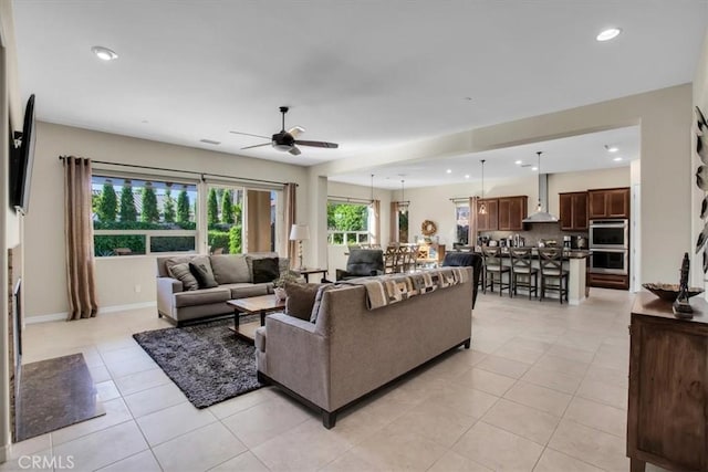
<svg viewBox="0 0 708 472">
<path fill-rule="evenodd" d="M 197 193 L 195 182 L 94 175 L 94 254 L 194 252 Z"/>
</svg>

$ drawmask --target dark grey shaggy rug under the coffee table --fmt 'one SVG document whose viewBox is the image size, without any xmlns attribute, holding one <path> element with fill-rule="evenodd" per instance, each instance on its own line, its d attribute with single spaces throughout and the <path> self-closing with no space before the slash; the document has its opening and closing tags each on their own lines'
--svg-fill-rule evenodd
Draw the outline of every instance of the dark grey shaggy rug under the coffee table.
<svg viewBox="0 0 708 472">
<path fill-rule="evenodd" d="M 135 340 L 197 408 L 207 408 L 262 387 L 256 348 L 237 338 L 233 319 L 149 331 Z"/>
</svg>

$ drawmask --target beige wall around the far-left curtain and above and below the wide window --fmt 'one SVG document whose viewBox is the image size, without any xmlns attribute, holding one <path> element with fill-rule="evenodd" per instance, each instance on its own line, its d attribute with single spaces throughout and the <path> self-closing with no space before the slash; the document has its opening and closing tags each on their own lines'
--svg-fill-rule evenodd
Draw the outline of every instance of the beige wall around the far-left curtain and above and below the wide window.
<svg viewBox="0 0 708 472">
<path fill-rule="evenodd" d="M 65 313 L 63 175 L 59 156 L 300 183 L 299 220 L 308 219 L 306 169 L 262 159 L 38 123 L 30 211 L 25 218 L 28 317 Z M 140 285 L 140 292 L 135 285 Z M 155 301 L 154 256 L 96 260 L 100 305 Z"/>
</svg>

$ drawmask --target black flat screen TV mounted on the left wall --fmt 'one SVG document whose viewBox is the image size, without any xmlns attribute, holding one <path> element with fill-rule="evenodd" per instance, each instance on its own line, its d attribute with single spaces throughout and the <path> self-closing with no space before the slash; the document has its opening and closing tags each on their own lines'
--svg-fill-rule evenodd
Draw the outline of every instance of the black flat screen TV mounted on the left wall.
<svg viewBox="0 0 708 472">
<path fill-rule="evenodd" d="M 17 212 L 27 214 L 30 206 L 30 183 L 34 162 L 34 95 L 30 95 L 24 108 L 24 123 L 20 145 L 11 146 L 10 160 L 10 206 Z"/>
</svg>

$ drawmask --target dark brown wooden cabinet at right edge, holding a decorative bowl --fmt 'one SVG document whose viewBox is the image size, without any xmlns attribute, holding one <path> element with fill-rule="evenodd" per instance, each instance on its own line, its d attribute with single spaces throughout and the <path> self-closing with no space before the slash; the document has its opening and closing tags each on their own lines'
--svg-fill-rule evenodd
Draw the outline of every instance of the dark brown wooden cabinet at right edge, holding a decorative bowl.
<svg viewBox="0 0 708 472">
<path fill-rule="evenodd" d="M 690 300 L 693 319 L 671 304 L 636 295 L 629 325 L 627 455 L 673 471 L 708 471 L 708 303 Z"/>
</svg>

